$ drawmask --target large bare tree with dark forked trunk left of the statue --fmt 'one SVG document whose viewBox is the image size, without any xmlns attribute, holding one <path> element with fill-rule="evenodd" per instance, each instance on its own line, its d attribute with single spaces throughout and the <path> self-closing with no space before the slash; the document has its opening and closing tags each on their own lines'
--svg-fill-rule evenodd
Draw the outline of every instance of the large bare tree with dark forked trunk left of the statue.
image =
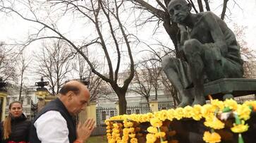
<svg viewBox="0 0 256 143">
<path fill-rule="evenodd" d="M 31 42 L 34 42 L 35 40 L 46 38 L 61 39 L 71 45 L 72 48 L 75 49 L 78 54 L 83 56 L 85 61 L 87 61 L 92 73 L 95 73 L 95 75 L 101 77 L 102 80 L 111 85 L 112 89 L 118 96 L 119 113 L 126 113 L 126 92 L 128 85 L 134 76 L 134 63 L 133 56 L 131 54 L 131 46 L 138 40 L 134 35 L 128 32 L 128 28 L 126 28 L 124 25 L 128 25 L 127 19 L 131 18 L 123 18 L 123 16 L 121 16 L 122 13 L 125 13 L 125 11 L 123 11 L 123 9 L 126 7 L 124 0 L 49 0 L 45 3 L 41 1 L 40 4 L 37 2 L 40 1 L 5 0 L 1 1 L 0 8 L 1 11 L 8 14 L 15 13 L 16 15 L 20 16 L 20 18 L 28 20 L 32 23 L 37 23 L 39 26 L 41 26 L 35 35 L 30 35 L 28 43 L 24 44 L 25 46 Z M 18 6 L 21 6 L 18 4 L 25 7 L 22 10 L 16 9 L 19 8 Z M 39 6 L 41 9 L 36 6 Z M 25 11 L 25 8 L 27 8 L 27 11 Z M 47 8 L 47 17 L 43 17 L 41 13 L 38 13 L 39 9 L 42 10 L 42 8 Z M 74 15 L 74 17 L 78 18 L 80 21 L 83 20 L 85 23 L 90 23 L 90 26 L 95 29 L 96 33 L 94 35 L 90 35 L 90 37 L 87 37 L 86 42 L 83 44 L 73 42 L 72 38 L 61 32 L 61 30 L 58 29 L 58 25 L 55 23 L 55 21 L 53 22 L 53 17 L 51 17 L 51 15 L 55 14 L 54 16 L 56 17 L 56 15 L 58 15 L 57 12 L 59 15 Z M 42 32 L 45 32 L 45 35 Z M 53 34 L 49 35 L 49 33 Z M 81 51 L 81 49 L 85 47 L 98 47 L 102 49 L 108 66 L 108 74 L 104 73 L 104 71 L 101 73 L 101 71 L 95 69 L 90 61 L 90 57 L 87 57 L 83 51 Z M 111 53 L 109 53 L 110 51 Z M 115 54 L 116 56 L 110 54 Z M 128 57 L 129 59 L 129 74 L 122 79 L 122 83 L 118 82 L 121 59 L 123 59 L 121 57 Z"/>
</svg>

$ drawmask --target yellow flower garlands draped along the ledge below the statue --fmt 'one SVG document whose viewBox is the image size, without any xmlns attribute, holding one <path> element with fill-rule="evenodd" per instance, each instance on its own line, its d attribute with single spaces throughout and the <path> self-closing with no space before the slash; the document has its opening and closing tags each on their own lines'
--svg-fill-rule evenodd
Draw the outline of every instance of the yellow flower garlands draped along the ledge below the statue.
<svg viewBox="0 0 256 143">
<path fill-rule="evenodd" d="M 225 120 L 234 118 L 230 130 L 238 134 L 238 143 L 243 143 L 241 133 L 248 130 L 249 126 L 245 122 L 250 119 L 252 111 L 256 111 L 256 101 L 237 104 L 233 99 L 226 101 L 214 99 L 211 100 L 211 104 L 204 106 L 185 106 L 185 108 L 171 108 L 154 113 L 114 116 L 105 120 L 106 135 L 109 143 L 137 143 L 138 138 L 142 137 L 138 132 L 140 130 L 138 125 L 149 123 L 149 127 L 145 130 L 146 140 L 141 142 L 178 143 L 174 138 L 176 131 L 171 130 L 171 121 L 191 118 L 204 121 L 203 125 L 209 130 L 205 131 L 202 139 L 205 142 L 215 143 L 221 142 L 221 135 L 216 130 L 225 128 Z"/>
</svg>

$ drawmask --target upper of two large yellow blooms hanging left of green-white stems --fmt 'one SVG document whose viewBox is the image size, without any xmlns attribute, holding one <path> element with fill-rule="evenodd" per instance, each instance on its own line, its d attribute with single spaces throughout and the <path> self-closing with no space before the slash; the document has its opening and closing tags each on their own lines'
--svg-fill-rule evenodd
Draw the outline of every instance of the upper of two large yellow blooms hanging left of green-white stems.
<svg viewBox="0 0 256 143">
<path fill-rule="evenodd" d="M 224 128 L 225 124 L 221 122 L 216 116 L 212 116 L 211 118 L 206 118 L 205 121 L 205 126 L 209 128 L 214 128 L 214 129 L 222 129 Z"/>
</svg>

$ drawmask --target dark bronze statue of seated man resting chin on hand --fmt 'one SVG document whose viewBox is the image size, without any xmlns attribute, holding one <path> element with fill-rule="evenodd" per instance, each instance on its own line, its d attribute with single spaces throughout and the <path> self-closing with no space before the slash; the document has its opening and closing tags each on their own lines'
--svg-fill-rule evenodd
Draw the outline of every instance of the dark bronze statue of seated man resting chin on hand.
<svg viewBox="0 0 256 143">
<path fill-rule="evenodd" d="M 240 46 L 226 23 L 212 12 L 194 14 L 190 10 L 185 0 L 170 1 L 168 11 L 181 35 L 178 50 L 185 59 L 162 59 L 164 73 L 181 97 L 180 107 L 205 104 L 205 82 L 243 77 Z"/>
</svg>

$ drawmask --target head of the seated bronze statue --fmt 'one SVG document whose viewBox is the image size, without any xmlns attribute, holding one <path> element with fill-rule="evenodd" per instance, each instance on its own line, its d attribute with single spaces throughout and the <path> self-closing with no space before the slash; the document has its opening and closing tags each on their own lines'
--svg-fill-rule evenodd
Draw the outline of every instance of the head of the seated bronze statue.
<svg viewBox="0 0 256 143">
<path fill-rule="evenodd" d="M 190 14 L 191 5 L 185 0 L 171 0 L 168 4 L 168 11 L 175 23 L 183 23 Z"/>
</svg>

